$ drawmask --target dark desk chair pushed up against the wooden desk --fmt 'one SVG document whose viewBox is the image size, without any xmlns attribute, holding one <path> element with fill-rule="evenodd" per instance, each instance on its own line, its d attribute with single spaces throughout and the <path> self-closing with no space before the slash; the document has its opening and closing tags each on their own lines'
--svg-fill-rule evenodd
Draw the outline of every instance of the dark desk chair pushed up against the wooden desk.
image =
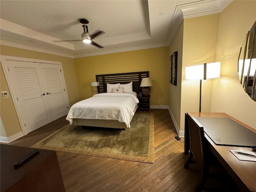
<svg viewBox="0 0 256 192">
<path fill-rule="evenodd" d="M 185 114 L 185 125 L 187 126 L 186 128 L 188 128 L 189 130 L 190 150 L 188 161 L 185 163 L 184 167 L 188 168 L 189 164 L 193 162 L 193 158 L 196 160 L 196 163 L 200 167 L 201 173 L 200 180 L 196 185 L 194 192 L 200 192 L 201 190 L 226 191 L 227 189 L 224 188 L 236 191 L 236 189 L 233 189 L 232 187 L 232 179 L 226 173 L 224 168 L 221 166 L 216 157 L 208 148 L 206 138 L 204 137 L 203 126 L 190 113 Z M 214 170 L 214 174 L 209 172 L 209 170 Z M 210 188 L 206 188 L 206 180 L 208 180 L 210 177 L 216 178 L 216 180 L 211 183 L 213 184 L 213 186 L 210 186 Z M 219 183 L 221 182 L 224 182 L 224 187 L 223 184 L 219 185 Z"/>
</svg>

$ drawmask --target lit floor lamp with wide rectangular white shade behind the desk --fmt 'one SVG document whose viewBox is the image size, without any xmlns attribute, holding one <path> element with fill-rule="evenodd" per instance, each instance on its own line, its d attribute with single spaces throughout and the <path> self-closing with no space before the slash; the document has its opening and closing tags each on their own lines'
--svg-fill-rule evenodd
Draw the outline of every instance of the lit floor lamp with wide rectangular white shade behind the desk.
<svg viewBox="0 0 256 192">
<path fill-rule="evenodd" d="M 185 78 L 200 80 L 199 112 L 201 112 L 202 80 L 218 77 L 220 77 L 220 62 L 186 66 Z"/>
</svg>

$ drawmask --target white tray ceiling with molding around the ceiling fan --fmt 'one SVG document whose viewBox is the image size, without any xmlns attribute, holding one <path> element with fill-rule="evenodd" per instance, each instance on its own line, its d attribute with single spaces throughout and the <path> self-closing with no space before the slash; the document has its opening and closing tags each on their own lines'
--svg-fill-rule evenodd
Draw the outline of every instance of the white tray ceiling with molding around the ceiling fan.
<svg viewBox="0 0 256 192">
<path fill-rule="evenodd" d="M 71 58 L 168 46 L 183 18 L 220 12 L 231 0 L 1 0 L 1 44 Z M 94 42 L 80 40 L 81 18 Z"/>
</svg>

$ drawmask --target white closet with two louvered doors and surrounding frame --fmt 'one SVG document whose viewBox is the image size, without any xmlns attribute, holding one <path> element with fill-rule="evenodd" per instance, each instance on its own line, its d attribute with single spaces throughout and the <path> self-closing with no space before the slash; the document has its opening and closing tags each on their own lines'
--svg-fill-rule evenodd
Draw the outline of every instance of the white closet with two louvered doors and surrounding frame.
<svg viewBox="0 0 256 192">
<path fill-rule="evenodd" d="M 1 56 L 23 134 L 68 114 L 60 62 Z"/>
</svg>

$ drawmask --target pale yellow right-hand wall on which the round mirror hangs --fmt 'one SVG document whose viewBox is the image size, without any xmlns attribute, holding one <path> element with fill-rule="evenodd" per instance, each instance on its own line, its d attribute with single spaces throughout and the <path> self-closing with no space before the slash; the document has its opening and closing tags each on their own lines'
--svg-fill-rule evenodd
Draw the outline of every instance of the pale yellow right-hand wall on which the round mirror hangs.
<svg viewBox="0 0 256 192">
<path fill-rule="evenodd" d="M 232 1 L 221 13 L 216 60 L 221 78 L 214 80 L 212 112 L 225 112 L 256 129 L 256 102 L 239 82 L 237 62 L 246 33 L 256 20 L 256 1 Z"/>
</svg>

